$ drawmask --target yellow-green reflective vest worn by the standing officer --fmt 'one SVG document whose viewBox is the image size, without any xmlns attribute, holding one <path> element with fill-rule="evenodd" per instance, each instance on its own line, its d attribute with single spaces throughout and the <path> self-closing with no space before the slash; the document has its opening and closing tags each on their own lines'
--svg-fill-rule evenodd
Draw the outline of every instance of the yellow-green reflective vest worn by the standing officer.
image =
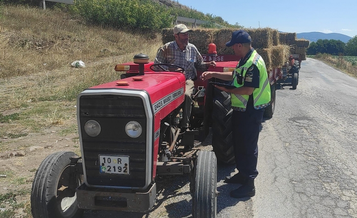
<svg viewBox="0 0 357 218">
<path fill-rule="evenodd" d="M 264 60 L 255 50 L 244 65 L 240 66 L 239 68 L 237 65 L 236 69 L 233 71 L 233 73 L 236 74 L 236 76 L 234 75 L 233 84 L 237 88 L 244 86 L 245 74 L 248 68 L 253 64 L 256 65 L 259 69 L 259 88 L 255 88 L 253 91 L 254 108 L 258 110 L 270 105 L 271 92 Z M 237 81 L 238 74 L 242 74 L 242 84 L 239 84 Z M 231 94 L 233 110 L 245 111 L 247 109 L 248 99 L 248 95 Z"/>
</svg>

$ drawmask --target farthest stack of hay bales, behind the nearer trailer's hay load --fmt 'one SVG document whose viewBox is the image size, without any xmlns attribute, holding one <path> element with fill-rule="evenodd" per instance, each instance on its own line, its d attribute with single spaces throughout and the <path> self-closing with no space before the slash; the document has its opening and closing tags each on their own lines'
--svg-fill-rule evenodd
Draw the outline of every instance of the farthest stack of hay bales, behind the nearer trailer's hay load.
<svg viewBox="0 0 357 218">
<path fill-rule="evenodd" d="M 301 60 L 306 60 L 306 50 L 309 41 L 306 39 L 297 39 L 296 33 L 280 32 L 280 43 L 290 46 L 290 54 L 299 54 Z"/>
</svg>

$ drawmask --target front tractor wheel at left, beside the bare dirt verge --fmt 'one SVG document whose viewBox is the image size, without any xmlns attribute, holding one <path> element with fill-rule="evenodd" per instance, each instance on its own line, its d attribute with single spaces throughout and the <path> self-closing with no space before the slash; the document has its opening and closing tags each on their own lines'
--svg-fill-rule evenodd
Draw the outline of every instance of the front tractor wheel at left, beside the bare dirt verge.
<svg viewBox="0 0 357 218">
<path fill-rule="evenodd" d="M 59 151 L 42 161 L 36 171 L 31 191 L 31 212 L 33 218 L 75 218 L 83 211 L 77 206 L 77 195 L 70 196 L 70 157 L 73 152 Z M 76 177 L 77 186 L 82 183 Z"/>
</svg>

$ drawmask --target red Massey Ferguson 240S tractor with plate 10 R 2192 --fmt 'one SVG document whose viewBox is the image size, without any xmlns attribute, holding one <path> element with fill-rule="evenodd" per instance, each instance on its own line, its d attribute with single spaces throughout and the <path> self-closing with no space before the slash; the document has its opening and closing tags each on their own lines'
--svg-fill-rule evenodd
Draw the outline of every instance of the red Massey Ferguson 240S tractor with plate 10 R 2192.
<svg viewBox="0 0 357 218">
<path fill-rule="evenodd" d="M 209 70 L 218 72 L 233 71 L 239 60 L 231 55 L 203 58 L 215 60 L 217 66 Z M 165 71 L 167 66 L 176 72 Z M 184 174 L 190 177 L 193 217 L 215 217 L 217 161 L 234 163 L 231 96 L 197 79 L 191 130 L 184 130 L 179 123 L 185 69 L 155 65 L 143 54 L 115 69 L 126 72 L 122 79 L 78 95 L 81 157 L 61 151 L 38 167 L 31 192 L 33 217 L 80 217 L 83 209 L 148 212 L 156 200 L 156 177 Z M 270 72 L 269 117 L 279 70 Z M 209 127 L 213 152 L 200 151 Z"/>
</svg>

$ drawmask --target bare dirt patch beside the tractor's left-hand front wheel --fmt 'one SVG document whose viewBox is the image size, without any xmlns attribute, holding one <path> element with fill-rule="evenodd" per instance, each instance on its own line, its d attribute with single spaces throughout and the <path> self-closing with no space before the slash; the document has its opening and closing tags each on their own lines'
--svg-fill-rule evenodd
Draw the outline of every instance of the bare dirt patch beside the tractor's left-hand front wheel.
<svg viewBox="0 0 357 218">
<path fill-rule="evenodd" d="M 59 136 L 56 131 L 31 134 L 18 139 L 1 139 L 0 146 L 9 149 L 4 153 L 17 153 L 0 159 L 0 194 L 19 189 L 30 189 L 33 177 L 42 160 L 57 151 L 79 154 L 78 135 Z"/>
</svg>

